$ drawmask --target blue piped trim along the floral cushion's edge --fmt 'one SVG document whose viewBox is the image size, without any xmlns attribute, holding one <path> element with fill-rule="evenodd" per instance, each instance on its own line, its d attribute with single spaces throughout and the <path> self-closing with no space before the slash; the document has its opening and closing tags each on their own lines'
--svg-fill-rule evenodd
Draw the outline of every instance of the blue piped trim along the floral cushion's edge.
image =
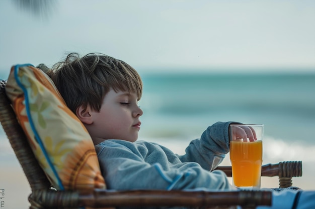
<svg viewBox="0 0 315 209">
<path fill-rule="evenodd" d="M 61 182 L 61 180 L 60 180 L 60 178 L 58 176 L 58 173 L 57 173 L 55 167 L 53 166 L 53 164 L 52 164 L 52 162 L 51 162 L 51 160 L 50 160 L 50 158 L 48 156 L 48 153 L 47 153 L 47 151 L 46 151 L 46 149 L 45 149 L 45 147 L 43 145 L 43 142 L 42 142 L 41 138 L 39 137 L 39 135 L 37 133 L 37 130 L 35 128 L 35 125 L 34 125 L 34 122 L 33 122 L 33 119 L 32 119 L 32 115 L 31 115 L 31 112 L 30 112 L 28 92 L 27 92 L 26 88 L 23 86 L 23 84 L 21 83 L 21 81 L 19 79 L 19 76 L 18 76 L 19 68 L 20 67 L 28 67 L 28 66 L 34 67 L 31 64 L 16 65 L 14 67 L 14 77 L 15 77 L 15 79 L 17 81 L 17 84 L 20 86 L 20 88 L 24 92 L 26 114 L 27 114 L 27 117 L 29 119 L 31 129 L 34 132 L 35 139 L 38 142 L 38 144 L 39 144 L 39 146 L 40 146 L 40 148 L 41 148 L 41 150 L 42 150 L 42 152 L 43 152 L 43 154 L 45 156 L 45 159 L 47 160 L 48 165 L 50 166 L 53 174 L 56 176 L 56 179 L 58 181 L 58 185 L 59 185 L 60 189 L 64 190 L 64 187 L 63 187 L 62 182 Z"/>
</svg>

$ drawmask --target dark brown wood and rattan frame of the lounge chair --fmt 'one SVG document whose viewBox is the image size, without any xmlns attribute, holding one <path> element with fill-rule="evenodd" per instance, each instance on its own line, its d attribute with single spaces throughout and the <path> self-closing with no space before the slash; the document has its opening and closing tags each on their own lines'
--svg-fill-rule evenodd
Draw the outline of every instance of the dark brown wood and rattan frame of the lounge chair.
<svg viewBox="0 0 315 209">
<path fill-rule="evenodd" d="M 88 207 L 160 207 L 186 206 L 194 208 L 226 208 L 241 205 L 255 208 L 257 205 L 271 205 L 271 191 L 178 191 L 178 190 L 130 190 L 111 191 L 95 189 L 87 193 L 78 191 L 56 191 L 51 188 L 44 171 L 39 166 L 24 131 L 11 107 L 5 92 L 6 81 L 0 81 L 0 122 L 8 136 L 11 146 L 23 168 L 31 186 L 30 208 L 78 208 Z M 223 170 L 231 176 L 231 167 Z M 280 187 L 292 185 L 292 177 L 302 176 L 301 161 L 280 162 L 262 167 L 262 176 L 279 176 Z"/>
</svg>

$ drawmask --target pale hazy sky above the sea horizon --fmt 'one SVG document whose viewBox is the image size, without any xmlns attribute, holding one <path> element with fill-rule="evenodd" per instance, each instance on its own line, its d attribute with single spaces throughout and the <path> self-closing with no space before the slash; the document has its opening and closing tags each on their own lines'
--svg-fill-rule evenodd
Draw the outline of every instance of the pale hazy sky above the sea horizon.
<svg viewBox="0 0 315 209">
<path fill-rule="evenodd" d="M 141 72 L 315 72 L 315 1 L 0 1 L 0 73 L 100 52 Z"/>
</svg>

